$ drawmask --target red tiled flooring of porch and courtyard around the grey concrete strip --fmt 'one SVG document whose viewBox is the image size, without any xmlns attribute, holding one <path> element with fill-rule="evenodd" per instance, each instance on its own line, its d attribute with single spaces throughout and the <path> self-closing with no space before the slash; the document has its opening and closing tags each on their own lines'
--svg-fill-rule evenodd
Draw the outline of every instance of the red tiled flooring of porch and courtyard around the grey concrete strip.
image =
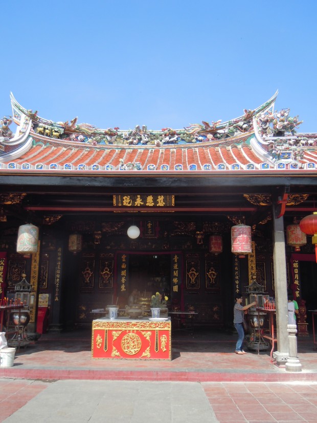
<svg viewBox="0 0 317 423">
<path fill-rule="evenodd" d="M 317 423 L 317 351 L 311 337 L 298 339 L 300 373 L 271 364 L 269 351 L 237 355 L 233 352 L 235 341 L 236 336 L 228 333 L 182 332 L 173 337 L 171 362 L 95 360 L 89 331 L 48 333 L 17 352 L 13 367 L 0 368 L 0 421 L 20 421 L 20 413 L 31 404 L 40 404 L 41 395 L 49 394 L 54 384 L 76 379 L 64 382 L 81 386 L 88 380 L 93 384 L 162 380 L 170 386 L 199 385 L 220 422 Z M 122 421 L 132 422 L 129 417 Z"/>
</svg>

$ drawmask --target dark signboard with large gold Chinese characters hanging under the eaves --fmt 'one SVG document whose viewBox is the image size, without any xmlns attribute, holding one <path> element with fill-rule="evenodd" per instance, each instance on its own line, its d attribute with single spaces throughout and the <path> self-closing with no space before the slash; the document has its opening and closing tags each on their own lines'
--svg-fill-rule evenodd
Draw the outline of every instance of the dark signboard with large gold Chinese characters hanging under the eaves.
<svg viewBox="0 0 317 423">
<path fill-rule="evenodd" d="M 174 207 L 175 198 L 173 195 L 165 194 L 131 194 L 114 195 L 114 207 L 123 208 L 148 208 L 160 209 L 162 207 Z"/>
</svg>

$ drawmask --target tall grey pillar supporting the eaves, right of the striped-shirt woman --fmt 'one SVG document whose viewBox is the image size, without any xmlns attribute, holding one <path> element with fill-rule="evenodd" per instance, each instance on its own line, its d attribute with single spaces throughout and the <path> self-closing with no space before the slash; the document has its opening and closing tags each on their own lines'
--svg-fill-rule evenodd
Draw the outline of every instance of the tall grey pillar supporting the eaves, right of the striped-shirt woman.
<svg viewBox="0 0 317 423">
<path fill-rule="evenodd" d="M 277 365 L 285 365 L 288 357 L 287 278 L 284 220 L 279 212 L 278 205 L 273 202 L 273 264 L 277 326 L 277 351 L 273 353 L 273 357 Z"/>
</svg>

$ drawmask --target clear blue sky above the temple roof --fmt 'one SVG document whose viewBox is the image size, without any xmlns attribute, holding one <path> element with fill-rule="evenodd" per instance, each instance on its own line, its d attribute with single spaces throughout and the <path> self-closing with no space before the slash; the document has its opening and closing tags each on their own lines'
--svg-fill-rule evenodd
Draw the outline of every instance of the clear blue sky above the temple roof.
<svg viewBox="0 0 317 423">
<path fill-rule="evenodd" d="M 15 0 L 3 10 L 0 115 L 10 91 L 53 121 L 183 128 L 238 117 L 278 89 L 317 132 L 317 3 Z"/>
</svg>

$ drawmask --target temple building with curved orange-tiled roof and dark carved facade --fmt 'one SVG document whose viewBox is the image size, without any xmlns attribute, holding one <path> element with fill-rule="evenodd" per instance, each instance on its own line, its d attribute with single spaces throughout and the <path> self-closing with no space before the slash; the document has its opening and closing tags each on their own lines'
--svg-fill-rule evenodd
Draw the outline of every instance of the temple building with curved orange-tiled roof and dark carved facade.
<svg viewBox="0 0 317 423">
<path fill-rule="evenodd" d="M 287 294 L 300 335 L 317 308 L 314 232 L 299 231 L 317 210 L 317 134 L 275 111 L 277 94 L 227 122 L 159 130 L 53 122 L 11 94 L 0 128 L 0 297 L 26 275 L 34 332 L 42 299 L 49 329 L 63 330 L 91 325 L 107 304 L 124 308 L 134 288 L 197 312 L 195 325 L 227 329 L 235 295 L 247 301 L 256 282 L 276 302 L 283 360 Z"/>
</svg>

